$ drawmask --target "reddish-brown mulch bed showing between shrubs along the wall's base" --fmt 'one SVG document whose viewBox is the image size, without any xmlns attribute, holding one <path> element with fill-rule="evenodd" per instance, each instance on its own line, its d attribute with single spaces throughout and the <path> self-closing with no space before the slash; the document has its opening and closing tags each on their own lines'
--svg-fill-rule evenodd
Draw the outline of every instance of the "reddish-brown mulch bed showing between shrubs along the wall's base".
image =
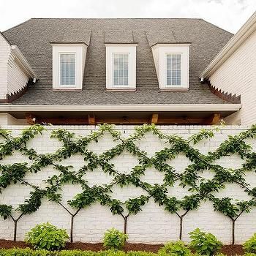
<svg viewBox="0 0 256 256">
<path fill-rule="evenodd" d="M 30 247 L 28 244 L 22 241 L 10 241 L 0 239 L 0 248 L 26 248 Z M 162 244 L 129 244 L 124 246 L 124 251 L 146 251 L 146 252 L 157 252 L 162 247 Z M 90 244 L 90 243 L 67 243 L 65 249 L 80 249 L 89 251 L 100 251 L 103 250 L 102 243 Z M 241 245 L 225 245 L 222 247 L 221 252 L 225 255 L 244 255 L 244 250 Z"/>
</svg>

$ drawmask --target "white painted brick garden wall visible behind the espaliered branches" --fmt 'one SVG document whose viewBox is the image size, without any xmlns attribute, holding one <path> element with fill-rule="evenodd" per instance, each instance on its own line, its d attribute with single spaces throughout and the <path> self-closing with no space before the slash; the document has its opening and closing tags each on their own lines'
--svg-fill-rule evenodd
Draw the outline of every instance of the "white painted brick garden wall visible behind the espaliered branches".
<svg viewBox="0 0 256 256">
<path fill-rule="evenodd" d="M 22 126 L 2 126 L 2 128 L 11 129 L 13 135 L 18 135 L 23 129 Z M 48 132 L 43 132 L 43 135 L 38 135 L 36 138 L 31 140 L 28 147 L 34 148 L 38 153 L 45 154 L 56 151 L 61 146 L 61 143 L 55 139 L 50 139 L 49 135 L 53 129 L 57 127 L 48 127 Z M 58 127 L 59 128 L 59 127 Z M 88 135 L 91 131 L 94 131 L 94 126 L 67 126 L 61 127 L 69 129 L 75 132 L 76 135 Z M 201 126 L 159 126 L 162 132 L 166 134 L 178 134 L 188 138 L 190 135 L 197 133 L 202 128 Z M 116 127 L 124 137 L 129 136 L 134 132 L 132 126 L 119 126 Z M 198 148 L 202 153 L 206 154 L 208 151 L 214 151 L 222 141 L 227 139 L 228 135 L 236 135 L 242 132 L 246 127 L 225 127 L 216 133 L 215 137 L 209 140 L 202 140 L 198 143 L 195 148 Z M 249 143 L 253 146 L 254 151 L 256 150 L 256 141 L 249 140 Z M 112 148 L 116 145 L 113 142 L 110 135 L 106 134 L 99 140 L 98 143 L 91 143 L 89 150 L 94 151 L 97 154 L 102 153 L 108 148 Z M 148 133 L 146 137 L 137 144 L 142 150 L 148 152 L 148 156 L 153 156 L 154 152 L 161 150 L 166 145 L 159 141 L 153 134 Z M 19 152 L 15 152 L 13 156 L 5 157 L 0 161 L 0 164 L 10 164 L 13 162 L 30 162 Z M 243 160 L 239 159 L 237 155 L 230 157 L 223 157 L 218 160 L 218 163 L 225 167 L 239 167 Z M 120 172 L 128 173 L 132 167 L 134 167 L 138 160 L 129 153 L 121 154 L 121 156 L 113 159 L 113 163 L 116 165 L 116 169 Z M 83 166 L 83 157 L 80 155 L 72 156 L 70 159 L 66 159 L 61 162 L 61 165 L 73 165 L 74 170 L 78 170 L 79 167 Z M 176 159 L 168 161 L 168 164 L 176 168 L 176 170 L 182 172 L 184 168 L 189 165 L 189 160 L 184 154 L 179 154 Z M 37 174 L 29 173 L 26 176 L 26 181 L 33 184 L 41 184 L 43 186 L 44 179 L 48 176 L 53 176 L 54 172 L 52 167 L 45 167 L 41 172 Z M 211 178 L 213 173 L 207 172 L 202 173 L 205 178 Z M 162 183 L 162 173 L 159 173 L 154 168 L 146 170 L 146 175 L 143 176 L 143 181 L 148 183 Z M 93 184 L 106 184 L 111 181 L 111 178 L 102 173 L 102 171 L 95 170 L 92 173 L 86 175 L 86 179 L 89 181 L 89 185 Z M 247 173 L 246 181 L 256 187 L 256 174 Z M 23 203 L 23 200 L 29 196 L 30 189 L 24 185 L 15 184 L 4 189 L 0 195 L 0 203 L 11 204 L 12 206 L 18 206 L 19 203 Z M 74 195 L 80 192 L 78 185 L 65 185 L 63 188 L 63 202 L 67 206 L 67 200 L 71 199 Z M 132 196 L 142 195 L 143 190 L 132 186 L 115 187 L 113 189 L 113 197 L 127 200 Z M 178 198 L 188 195 L 187 189 L 178 187 L 178 183 L 175 187 L 169 189 L 170 195 L 175 195 Z M 237 199 L 247 199 L 247 195 L 236 185 L 228 185 L 219 194 L 219 197 L 234 197 Z M 72 210 L 74 211 L 74 210 Z M 18 213 L 16 214 L 18 216 Z M 42 206 L 37 212 L 31 215 L 23 216 L 18 222 L 18 240 L 23 240 L 24 234 L 42 222 L 51 222 L 53 225 L 63 227 L 69 230 L 70 217 L 67 211 L 56 205 L 56 203 L 48 202 L 44 200 Z M 128 219 L 127 232 L 129 234 L 129 242 L 143 242 L 143 243 L 162 243 L 170 240 L 178 239 L 178 217 L 176 214 L 169 214 L 164 211 L 164 208 L 159 207 L 157 204 L 150 200 L 146 206 L 143 207 L 143 211 L 138 213 L 136 216 L 131 216 Z M 89 208 L 80 211 L 77 217 L 75 217 L 74 224 L 74 241 L 86 241 L 86 242 L 98 242 L 101 241 L 103 233 L 110 227 L 116 227 L 123 230 L 123 219 L 120 216 L 113 216 L 109 209 L 104 206 L 100 206 L 98 203 L 92 205 Z M 184 217 L 184 241 L 189 241 L 188 233 L 200 227 L 203 230 L 214 233 L 221 241 L 229 244 L 231 241 L 231 222 L 230 219 L 225 217 L 223 214 L 213 210 L 211 202 L 205 202 L 201 204 L 201 207 L 197 211 L 192 211 Z M 12 239 L 13 236 L 13 222 L 10 219 L 0 219 L 0 238 Z M 256 209 L 249 214 L 242 215 L 236 225 L 236 243 L 241 243 L 246 240 L 253 233 L 256 232 Z"/>
</svg>

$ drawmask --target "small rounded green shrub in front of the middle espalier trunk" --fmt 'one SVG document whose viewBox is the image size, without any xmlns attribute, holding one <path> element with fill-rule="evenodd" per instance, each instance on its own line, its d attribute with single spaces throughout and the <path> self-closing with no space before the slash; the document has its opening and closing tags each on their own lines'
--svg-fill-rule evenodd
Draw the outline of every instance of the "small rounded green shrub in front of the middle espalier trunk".
<svg viewBox="0 0 256 256">
<path fill-rule="evenodd" d="M 103 246 L 108 249 L 121 249 L 123 248 L 125 241 L 127 241 L 128 236 L 123 232 L 111 228 L 107 230 L 103 238 Z"/>
</svg>

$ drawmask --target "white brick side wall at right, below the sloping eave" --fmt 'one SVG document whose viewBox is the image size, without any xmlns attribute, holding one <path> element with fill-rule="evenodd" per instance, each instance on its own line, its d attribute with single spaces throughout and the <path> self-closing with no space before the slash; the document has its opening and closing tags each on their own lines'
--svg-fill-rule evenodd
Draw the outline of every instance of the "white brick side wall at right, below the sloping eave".
<svg viewBox="0 0 256 256">
<path fill-rule="evenodd" d="M 256 31 L 209 78 L 222 91 L 241 95 L 242 108 L 228 116 L 228 124 L 256 122 Z"/>
</svg>

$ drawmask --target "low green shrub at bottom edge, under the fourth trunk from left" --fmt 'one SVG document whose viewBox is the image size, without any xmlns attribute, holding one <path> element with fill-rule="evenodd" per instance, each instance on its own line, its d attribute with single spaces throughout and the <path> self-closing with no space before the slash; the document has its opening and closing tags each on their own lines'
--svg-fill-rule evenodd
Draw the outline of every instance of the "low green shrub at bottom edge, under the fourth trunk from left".
<svg viewBox="0 0 256 256">
<path fill-rule="evenodd" d="M 158 251 L 159 255 L 188 256 L 191 251 L 183 241 L 169 242 Z"/>
</svg>

